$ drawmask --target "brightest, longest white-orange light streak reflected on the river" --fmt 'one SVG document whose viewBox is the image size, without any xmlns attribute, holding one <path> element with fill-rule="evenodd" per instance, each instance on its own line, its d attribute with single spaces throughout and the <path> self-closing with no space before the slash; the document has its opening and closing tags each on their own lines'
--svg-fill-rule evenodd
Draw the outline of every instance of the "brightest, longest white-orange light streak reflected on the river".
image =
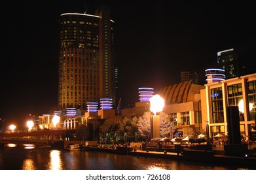
<svg viewBox="0 0 256 183">
<path fill-rule="evenodd" d="M 50 162 L 48 163 L 48 168 L 50 170 L 62 170 L 62 160 L 60 159 L 60 150 L 50 151 Z"/>
</svg>

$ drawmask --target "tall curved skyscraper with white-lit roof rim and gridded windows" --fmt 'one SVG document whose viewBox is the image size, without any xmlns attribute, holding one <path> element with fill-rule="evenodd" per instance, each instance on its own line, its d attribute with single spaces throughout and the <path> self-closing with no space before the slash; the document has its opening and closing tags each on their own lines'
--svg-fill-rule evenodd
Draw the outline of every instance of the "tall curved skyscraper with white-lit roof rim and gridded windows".
<svg viewBox="0 0 256 183">
<path fill-rule="evenodd" d="M 114 61 L 114 24 L 110 7 L 101 5 L 95 15 L 60 16 L 58 107 L 86 108 L 87 102 L 113 99 L 117 90 Z"/>
</svg>

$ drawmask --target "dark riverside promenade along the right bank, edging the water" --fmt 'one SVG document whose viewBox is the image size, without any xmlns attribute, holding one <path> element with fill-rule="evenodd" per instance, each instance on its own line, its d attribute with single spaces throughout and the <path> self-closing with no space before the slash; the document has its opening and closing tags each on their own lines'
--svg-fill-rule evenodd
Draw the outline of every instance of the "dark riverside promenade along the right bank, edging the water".
<svg viewBox="0 0 256 183">
<path fill-rule="evenodd" d="M 256 169 L 256 144 L 248 145 L 246 153 L 239 154 L 238 156 L 228 156 L 224 148 L 224 145 L 216 145 L 211 150 L 194 150 L 189 148 L 183 148 L 182 150 L 175 148 L 168 150 L 164 148 L 162 150 L 154 150 L 153 148 L 142 150 L 141 148 L 135 149 L 134 146 L 118 146 L 114 149 L 110 147 L 86 146 L 82 150 L 137 156 L 137 158 L 174 159 L 177 161 L 206 163 L 208 165 L 234 165 L 236 167 Z"/>
</svg>

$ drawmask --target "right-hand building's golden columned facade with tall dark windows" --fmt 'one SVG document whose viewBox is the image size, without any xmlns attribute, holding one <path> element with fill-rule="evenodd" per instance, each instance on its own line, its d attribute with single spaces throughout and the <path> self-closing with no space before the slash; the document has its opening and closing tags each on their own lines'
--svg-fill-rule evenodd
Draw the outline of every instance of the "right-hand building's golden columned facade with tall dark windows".
<svg viewBox="0 0 256 183">
<path fill-rule="evenodd" d="M 256 74 L 205 84 L 201 90 L 202 122 L 209 122 L 210 137 L 228 135 L 227 108 L 238 106 L 240 133 L 255 141 L 252 126 L 256 120 Z"/>
</svg>

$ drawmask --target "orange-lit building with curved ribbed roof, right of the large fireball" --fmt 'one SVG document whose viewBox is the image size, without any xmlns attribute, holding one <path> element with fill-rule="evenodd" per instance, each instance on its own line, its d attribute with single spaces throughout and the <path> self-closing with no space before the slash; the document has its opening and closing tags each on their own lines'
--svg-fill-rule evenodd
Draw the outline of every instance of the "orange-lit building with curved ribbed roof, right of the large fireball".
<svg viewBox="0 0 256 183">
<path fill-rule="evenodd" d="M 202 129 L 200 90 L 203 88 L 189 80 L 166 86 L 158 92 L 165 101 L 163 112 L 183 135 L 187 135 L 190 127 L 196 133 Z"/>
</svg>

